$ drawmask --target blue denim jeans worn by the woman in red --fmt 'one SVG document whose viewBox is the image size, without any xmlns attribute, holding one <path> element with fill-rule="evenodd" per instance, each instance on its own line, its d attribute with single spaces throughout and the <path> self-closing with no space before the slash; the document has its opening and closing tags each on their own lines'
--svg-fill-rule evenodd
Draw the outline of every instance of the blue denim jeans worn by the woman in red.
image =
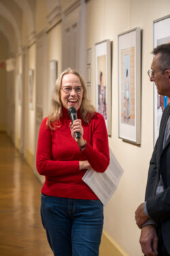
<svg viewBox="0 0 170 256">
<path fill-rule="evenodd" d="M 103 230 L 99 200 L 41 195 L 41 220 L 54 256 L 98 256 Z"/>
</svg>

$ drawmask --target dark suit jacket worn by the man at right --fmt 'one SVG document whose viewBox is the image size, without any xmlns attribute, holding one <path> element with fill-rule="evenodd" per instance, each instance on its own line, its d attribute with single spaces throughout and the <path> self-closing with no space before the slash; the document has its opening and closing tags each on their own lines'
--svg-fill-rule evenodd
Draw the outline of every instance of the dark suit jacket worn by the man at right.
<svg viewBox="0 0 170 256">
<path fill-rule="evenodd" d="M 154 152 L 150 160 L 148 182 L 146 186 L 147 210 L 150 217 L 162 226 L 163 240 L 170 253 L 170 137 L 163 149 L 163 140 L 167 120 L 170 115 L 170 104 L 163 112 L 160 122 L 160 132 Z M 163 177 L 165 190 L 155 195 L 160 173 Z"/>
</svg>

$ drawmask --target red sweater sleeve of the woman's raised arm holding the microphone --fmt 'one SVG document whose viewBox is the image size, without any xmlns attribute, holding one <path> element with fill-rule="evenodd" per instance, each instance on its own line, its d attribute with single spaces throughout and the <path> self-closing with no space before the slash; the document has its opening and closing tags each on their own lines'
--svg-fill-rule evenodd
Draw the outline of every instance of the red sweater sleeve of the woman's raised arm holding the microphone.
<svg viewBox="0 0 170 256">
<path fill-rule="evenodd" d="M 109 142 L 103 115 L 97 114 L 97 119 L 92 129 L 92 145 L 87 143 L 83 154 L 86 156 L 92 169 L 103 173 L 109 165 Z"/>
</svg>

